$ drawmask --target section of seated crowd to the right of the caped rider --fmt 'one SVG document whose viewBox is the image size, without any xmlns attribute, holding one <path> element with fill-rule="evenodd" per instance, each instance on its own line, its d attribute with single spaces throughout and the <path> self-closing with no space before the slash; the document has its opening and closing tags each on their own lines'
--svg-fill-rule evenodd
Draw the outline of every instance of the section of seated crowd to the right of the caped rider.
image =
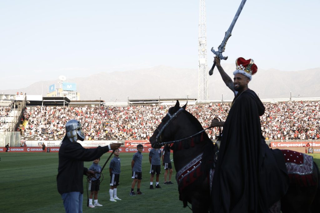
<svg viewBox="0 0 320 213">
<path fill-rule="evenodd" d="M 320 102 L 264 104 L 262 134 L 270 140 L 319 140 Z"/>
</svg>

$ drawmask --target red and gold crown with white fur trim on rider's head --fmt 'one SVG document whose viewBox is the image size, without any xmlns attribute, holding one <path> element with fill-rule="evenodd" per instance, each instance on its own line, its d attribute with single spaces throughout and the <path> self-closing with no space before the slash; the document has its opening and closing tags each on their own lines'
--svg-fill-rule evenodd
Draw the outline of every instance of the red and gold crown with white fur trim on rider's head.
<svg viewBox="0 0 320 213">
<path fill-rule="evenodd" d="M 245 60 L 242 57 L 236 59 L 236 70 L 233 72 L 234 75 L 240 73 L 251 80 L 252 75 L 256 74 L 257 71 L 258 67 L 254 64 L 252 59 Z"/>
</svg>

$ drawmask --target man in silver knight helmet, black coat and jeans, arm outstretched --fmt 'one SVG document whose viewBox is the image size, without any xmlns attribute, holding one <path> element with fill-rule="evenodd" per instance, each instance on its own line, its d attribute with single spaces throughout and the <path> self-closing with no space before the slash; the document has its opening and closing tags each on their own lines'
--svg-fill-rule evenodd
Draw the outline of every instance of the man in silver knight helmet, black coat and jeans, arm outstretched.
<svg viewBox="0 0 320 213">
<path fill-rule="evenodd" d="M 61 194 L 66 212 L 82 212 L 83 176 L 95 175 L 94 171 L 84 167 L 84 161 L 93 161 L 109 150 L 118 149 L 120 143 L 105 147 L 86 149 L 77 143 L 84 141 L 81 123 L 69 120 L 66 123 L 66 135 L 59 149 L 59 167 L 57 175 L 58 192 Z"/>
</svg>

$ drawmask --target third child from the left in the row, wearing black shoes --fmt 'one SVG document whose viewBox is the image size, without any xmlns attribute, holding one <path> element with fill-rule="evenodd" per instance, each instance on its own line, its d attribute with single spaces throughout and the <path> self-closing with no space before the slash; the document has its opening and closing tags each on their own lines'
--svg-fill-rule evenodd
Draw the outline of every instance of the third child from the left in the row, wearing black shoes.
<svg viewBox="0 0 320 213">
<path fill-rule="evenodd" d="M 133 191 L 134 186 L 137 183 L 137 194 L 142 194 L 140 192 L 140 184 L 141 184 L 141 179 L 142 179 L 142 154 L 141 152 L 143 151 L 143 145 L 138 144 L 137 146 L 137 152 L 133 155 L 132 161 L 131 161 L 131 168 L 132 168 L 132 184 L 131 184 L 131 191 L 130 195 L 136 195 Z"/>
</svg>

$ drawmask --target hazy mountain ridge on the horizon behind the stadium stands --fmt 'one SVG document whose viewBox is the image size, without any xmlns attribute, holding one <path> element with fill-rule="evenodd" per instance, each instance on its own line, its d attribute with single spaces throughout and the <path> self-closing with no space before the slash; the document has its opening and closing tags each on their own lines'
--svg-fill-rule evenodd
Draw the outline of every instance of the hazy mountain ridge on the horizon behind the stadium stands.
<svg viewBox="0 0 320 213">
<path fill-rule="evenodd" d="M 209 67 L 209 66 L 208 66 Z M 210 67 L 208 68 L 210 69 Z M 233 79 L 235 65 L 224 65 L 227 74 Z M 302 71 L 280 71 L 276 69 L 262 70 L 252 77 L 249 88 L 254 90 L 261 99 L 319 97 L 320 84 L 317 79 L 320 68 Z M 0 90 L 6 94 L 16 94 L 17 91 L 29 95 L 41 95 L 49 90 L 49 86 L 56 84 L 58 79 L 38 81 L 25 88 Z M 105 100 L 112 102 L 126 102 L 129 99 L 152 98 L 196 98 L 198 94 L 198 70 L 174 68 L 159 65 L 151 68 L 126 72 L 100 72 L 88 77 L 71 78 L 69 82 L 77 84 L 77 91 L 81 100 Z M 42 90 L 43 88 L 43 90 Z M 233 99 L 231 90 L 225 86 L 217 68 L 213 75 L 208 75 L 209 100 Z"/>
</svg>

